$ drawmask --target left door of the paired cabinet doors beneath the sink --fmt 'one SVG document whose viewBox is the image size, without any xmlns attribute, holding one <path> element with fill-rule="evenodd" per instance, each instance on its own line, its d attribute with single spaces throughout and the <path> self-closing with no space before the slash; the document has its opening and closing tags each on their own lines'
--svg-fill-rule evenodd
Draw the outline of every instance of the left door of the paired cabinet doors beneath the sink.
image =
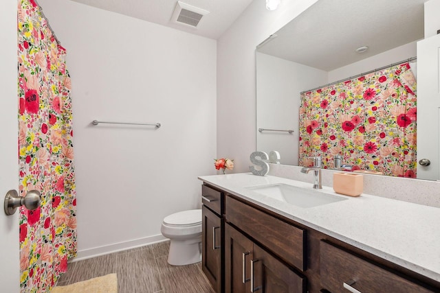
<svg viewBox="0 0 440 293">
<path fill-rule="evenodd" d="M 250 291 L 250 260 L 253 243 L 225 224 L 225 292 L 240 293 Z"/>
</svg>

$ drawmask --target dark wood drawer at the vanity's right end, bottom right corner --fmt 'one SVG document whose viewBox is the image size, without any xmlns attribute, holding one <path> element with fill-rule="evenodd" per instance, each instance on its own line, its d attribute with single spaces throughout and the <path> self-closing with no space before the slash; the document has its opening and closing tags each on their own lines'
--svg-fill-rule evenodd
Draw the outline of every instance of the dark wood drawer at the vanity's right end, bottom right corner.
<svg viewBox="0 0 440 293">
<path fill-rule="evenodd" d="M 362 293 L 433 292 L 322 241 L 320 242 L 320 276 L 322 287 L 332 293 L 349 292 L 344 286 L 350 283 L 352 288 Z"/>
</svg>

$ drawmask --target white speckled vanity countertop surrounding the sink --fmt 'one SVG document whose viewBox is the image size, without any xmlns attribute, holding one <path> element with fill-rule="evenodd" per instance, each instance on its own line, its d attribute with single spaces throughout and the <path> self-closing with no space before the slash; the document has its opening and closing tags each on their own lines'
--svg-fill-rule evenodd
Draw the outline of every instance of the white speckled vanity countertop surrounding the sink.
<svg viewBox="0 0 440 293">
<path fill-rule="evenodd" d="M 285 183 L 312 189 L 311 183 L 275 176 L 254 176 L 251 173 L 200 176 L 199 179 L 373 255 L 440 281 L 439 208 L 369 194 L 354 198 L 342 196 L 336 194 L 332 187 L 322 187 L 322 191 L 349 200 L 301 208 L 245 187 Z"/>
</svg>

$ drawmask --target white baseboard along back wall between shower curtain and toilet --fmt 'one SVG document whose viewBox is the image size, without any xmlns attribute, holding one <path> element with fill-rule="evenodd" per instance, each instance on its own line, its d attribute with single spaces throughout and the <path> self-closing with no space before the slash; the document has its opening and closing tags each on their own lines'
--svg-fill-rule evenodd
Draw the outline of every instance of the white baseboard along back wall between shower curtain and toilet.
<svg viewBox="0 0 440 293">
<path fill-rule="evenodd" d="M 90 259 L 91 257 L 98 257 L 100 255 L 108 255 L 109 253 L 116 253 L 118 251 L 155 244 L 158 242 L 164 242 L 166 240 L 168 240 L 168 238 L 165 238 L 162 234 L 159 234 L 139 239 L 133 239 L 126 242 L 119 242 L 105 246 L 78 250 L 76 257 L 69 259 L 69 262 L 82 261 L 83 259 Z"/>
</svg>

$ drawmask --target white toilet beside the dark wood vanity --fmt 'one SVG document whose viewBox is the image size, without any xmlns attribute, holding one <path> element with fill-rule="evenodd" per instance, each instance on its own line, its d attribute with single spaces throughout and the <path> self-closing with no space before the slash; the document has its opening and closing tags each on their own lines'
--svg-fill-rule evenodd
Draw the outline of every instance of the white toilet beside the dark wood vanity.
<svg viewBox="0 0 440 293">
<path fill-rule="evenodd" d="M 201 261 L 201 209 L 168 215 L 160 231 L 171 240 L 169 264 L 184 266 Z"/>
</svg>

